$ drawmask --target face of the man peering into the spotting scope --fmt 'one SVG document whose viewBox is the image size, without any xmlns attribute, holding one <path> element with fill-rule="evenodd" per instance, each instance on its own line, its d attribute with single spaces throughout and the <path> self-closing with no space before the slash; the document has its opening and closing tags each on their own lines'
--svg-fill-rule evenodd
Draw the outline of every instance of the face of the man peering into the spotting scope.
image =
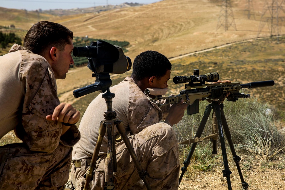
<svg viewBox="0 0 285 190">
<path fill-rule="evenodd" d="M 58 51 L 57 64 L 52 68 L 56 79 L 65 79 L 70 65 L 74 64 L 71 56 L 74 46 L 72 44 L 72 39 L 69 38 L 69 40 L 70 44 L 66 44 L 63 51 Z"/>
</svg>

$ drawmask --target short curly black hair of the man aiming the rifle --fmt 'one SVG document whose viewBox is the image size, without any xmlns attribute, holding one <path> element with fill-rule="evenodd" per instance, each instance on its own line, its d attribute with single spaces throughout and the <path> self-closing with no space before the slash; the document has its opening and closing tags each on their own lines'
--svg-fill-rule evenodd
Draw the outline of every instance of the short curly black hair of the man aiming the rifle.
<svg viewBox="0 0 285 190">
<path fill-rule="evenodd" d="M 131 77 L 137 81 L 151 76 L 156 76 L 159 79 L 171 68 L 172 65 L 166 56 L 156 51 L 148 50 L 142 52 L 134 59 Z"/>
</svg>

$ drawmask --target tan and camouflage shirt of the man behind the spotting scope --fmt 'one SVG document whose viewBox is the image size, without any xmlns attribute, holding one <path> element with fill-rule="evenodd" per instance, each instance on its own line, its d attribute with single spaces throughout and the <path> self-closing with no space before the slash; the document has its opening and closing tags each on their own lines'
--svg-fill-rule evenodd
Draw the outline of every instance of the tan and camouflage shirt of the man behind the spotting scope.
<svg viewBox="0 0 285 190">
<path fill-rule="evenodd" d="M 0 94 L 0 105 L 1 109 L 6 109 L 0 112 L 1 130 L 15 128 L 18 137 L 32 151 L 50 153 L 59 143 L 73 146 L 78 142 L 80 133 L 76 125 L 61 136 L 61 122 L 45 119 L 60 104 L 50 64 L 17 44 L 0 57 L 0 63 L 6 73 L 11 73 L 7 76 L 0 71 L 1 76 L 7 76 L 0 78 L 0 88 L 4 92 Z"/>
</svg>

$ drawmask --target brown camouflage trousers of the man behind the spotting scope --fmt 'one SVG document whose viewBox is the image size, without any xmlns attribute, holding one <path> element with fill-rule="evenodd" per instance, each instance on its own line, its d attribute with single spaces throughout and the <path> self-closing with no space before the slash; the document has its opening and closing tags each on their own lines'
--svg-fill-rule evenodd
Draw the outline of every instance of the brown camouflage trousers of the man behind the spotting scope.
<svg viewBox="0 0 285 190">
<path fill-rule="evenodd" d="M 52 153 L 30 151 L 24 143 L 0 146 L 0 189 L 64 189 L 71 154 L 62 144 Z"/>
</svg>

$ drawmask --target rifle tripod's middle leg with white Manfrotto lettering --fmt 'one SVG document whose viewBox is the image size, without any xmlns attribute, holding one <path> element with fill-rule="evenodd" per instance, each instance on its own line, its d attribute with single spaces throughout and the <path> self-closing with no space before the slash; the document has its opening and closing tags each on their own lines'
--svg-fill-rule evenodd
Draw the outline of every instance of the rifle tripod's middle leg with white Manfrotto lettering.
<svg viewBox="0 0 285 190">
<path fill-rule="evenodd" d="M 216 102 L 212 104 L 212 107 L 214 109 L 214 112 L 217 117 L 217 124 L 218 124 L 218 130 L 219 130 L 219 137 L 220 137 L 220 143 L 221 143 L 221 149 L 222 149 L 222 156 L 223 156 L 223 162 L 224 162 L 224 170 L 223 170 L 223 177 L 227 177 L 227 184 L 228 184 L 228 189 L 231 190 L 231 171 L 229 170 L 229 163 L 227 159 L 227 151 L 226 151 L 226 146 L 225 146 L 225 138 L 223 134 L 223 128 L 222 128 L 222 122 L 221 122 L 221 107 L 220 105 Z"/>
</svg>

